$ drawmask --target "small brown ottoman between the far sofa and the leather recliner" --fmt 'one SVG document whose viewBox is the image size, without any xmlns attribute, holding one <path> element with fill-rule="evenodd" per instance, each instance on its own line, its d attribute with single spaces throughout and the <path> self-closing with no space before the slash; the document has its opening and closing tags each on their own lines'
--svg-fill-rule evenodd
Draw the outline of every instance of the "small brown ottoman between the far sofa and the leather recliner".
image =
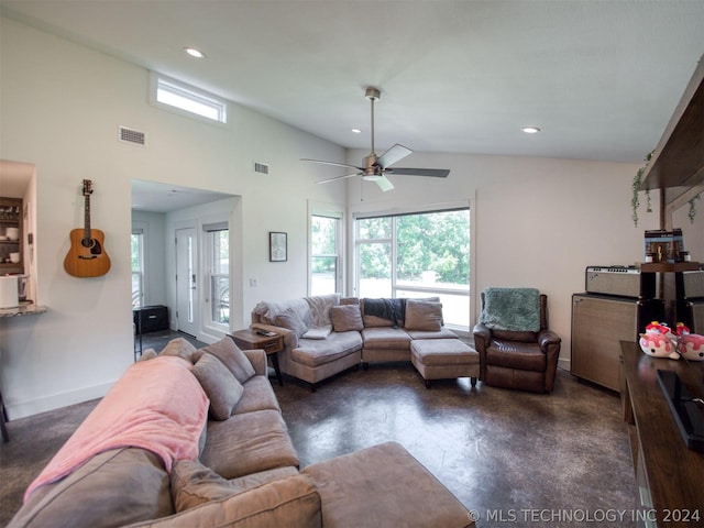
<svg viewBox="0 0 704 528">
<path fill-rule="evenodd" d="M 410 362 L 430 388 L 431 380 L 469 377 L 476 386 L 480 354 L 459 339 L 420 339 L 410 343 Z"/>
</svg>

